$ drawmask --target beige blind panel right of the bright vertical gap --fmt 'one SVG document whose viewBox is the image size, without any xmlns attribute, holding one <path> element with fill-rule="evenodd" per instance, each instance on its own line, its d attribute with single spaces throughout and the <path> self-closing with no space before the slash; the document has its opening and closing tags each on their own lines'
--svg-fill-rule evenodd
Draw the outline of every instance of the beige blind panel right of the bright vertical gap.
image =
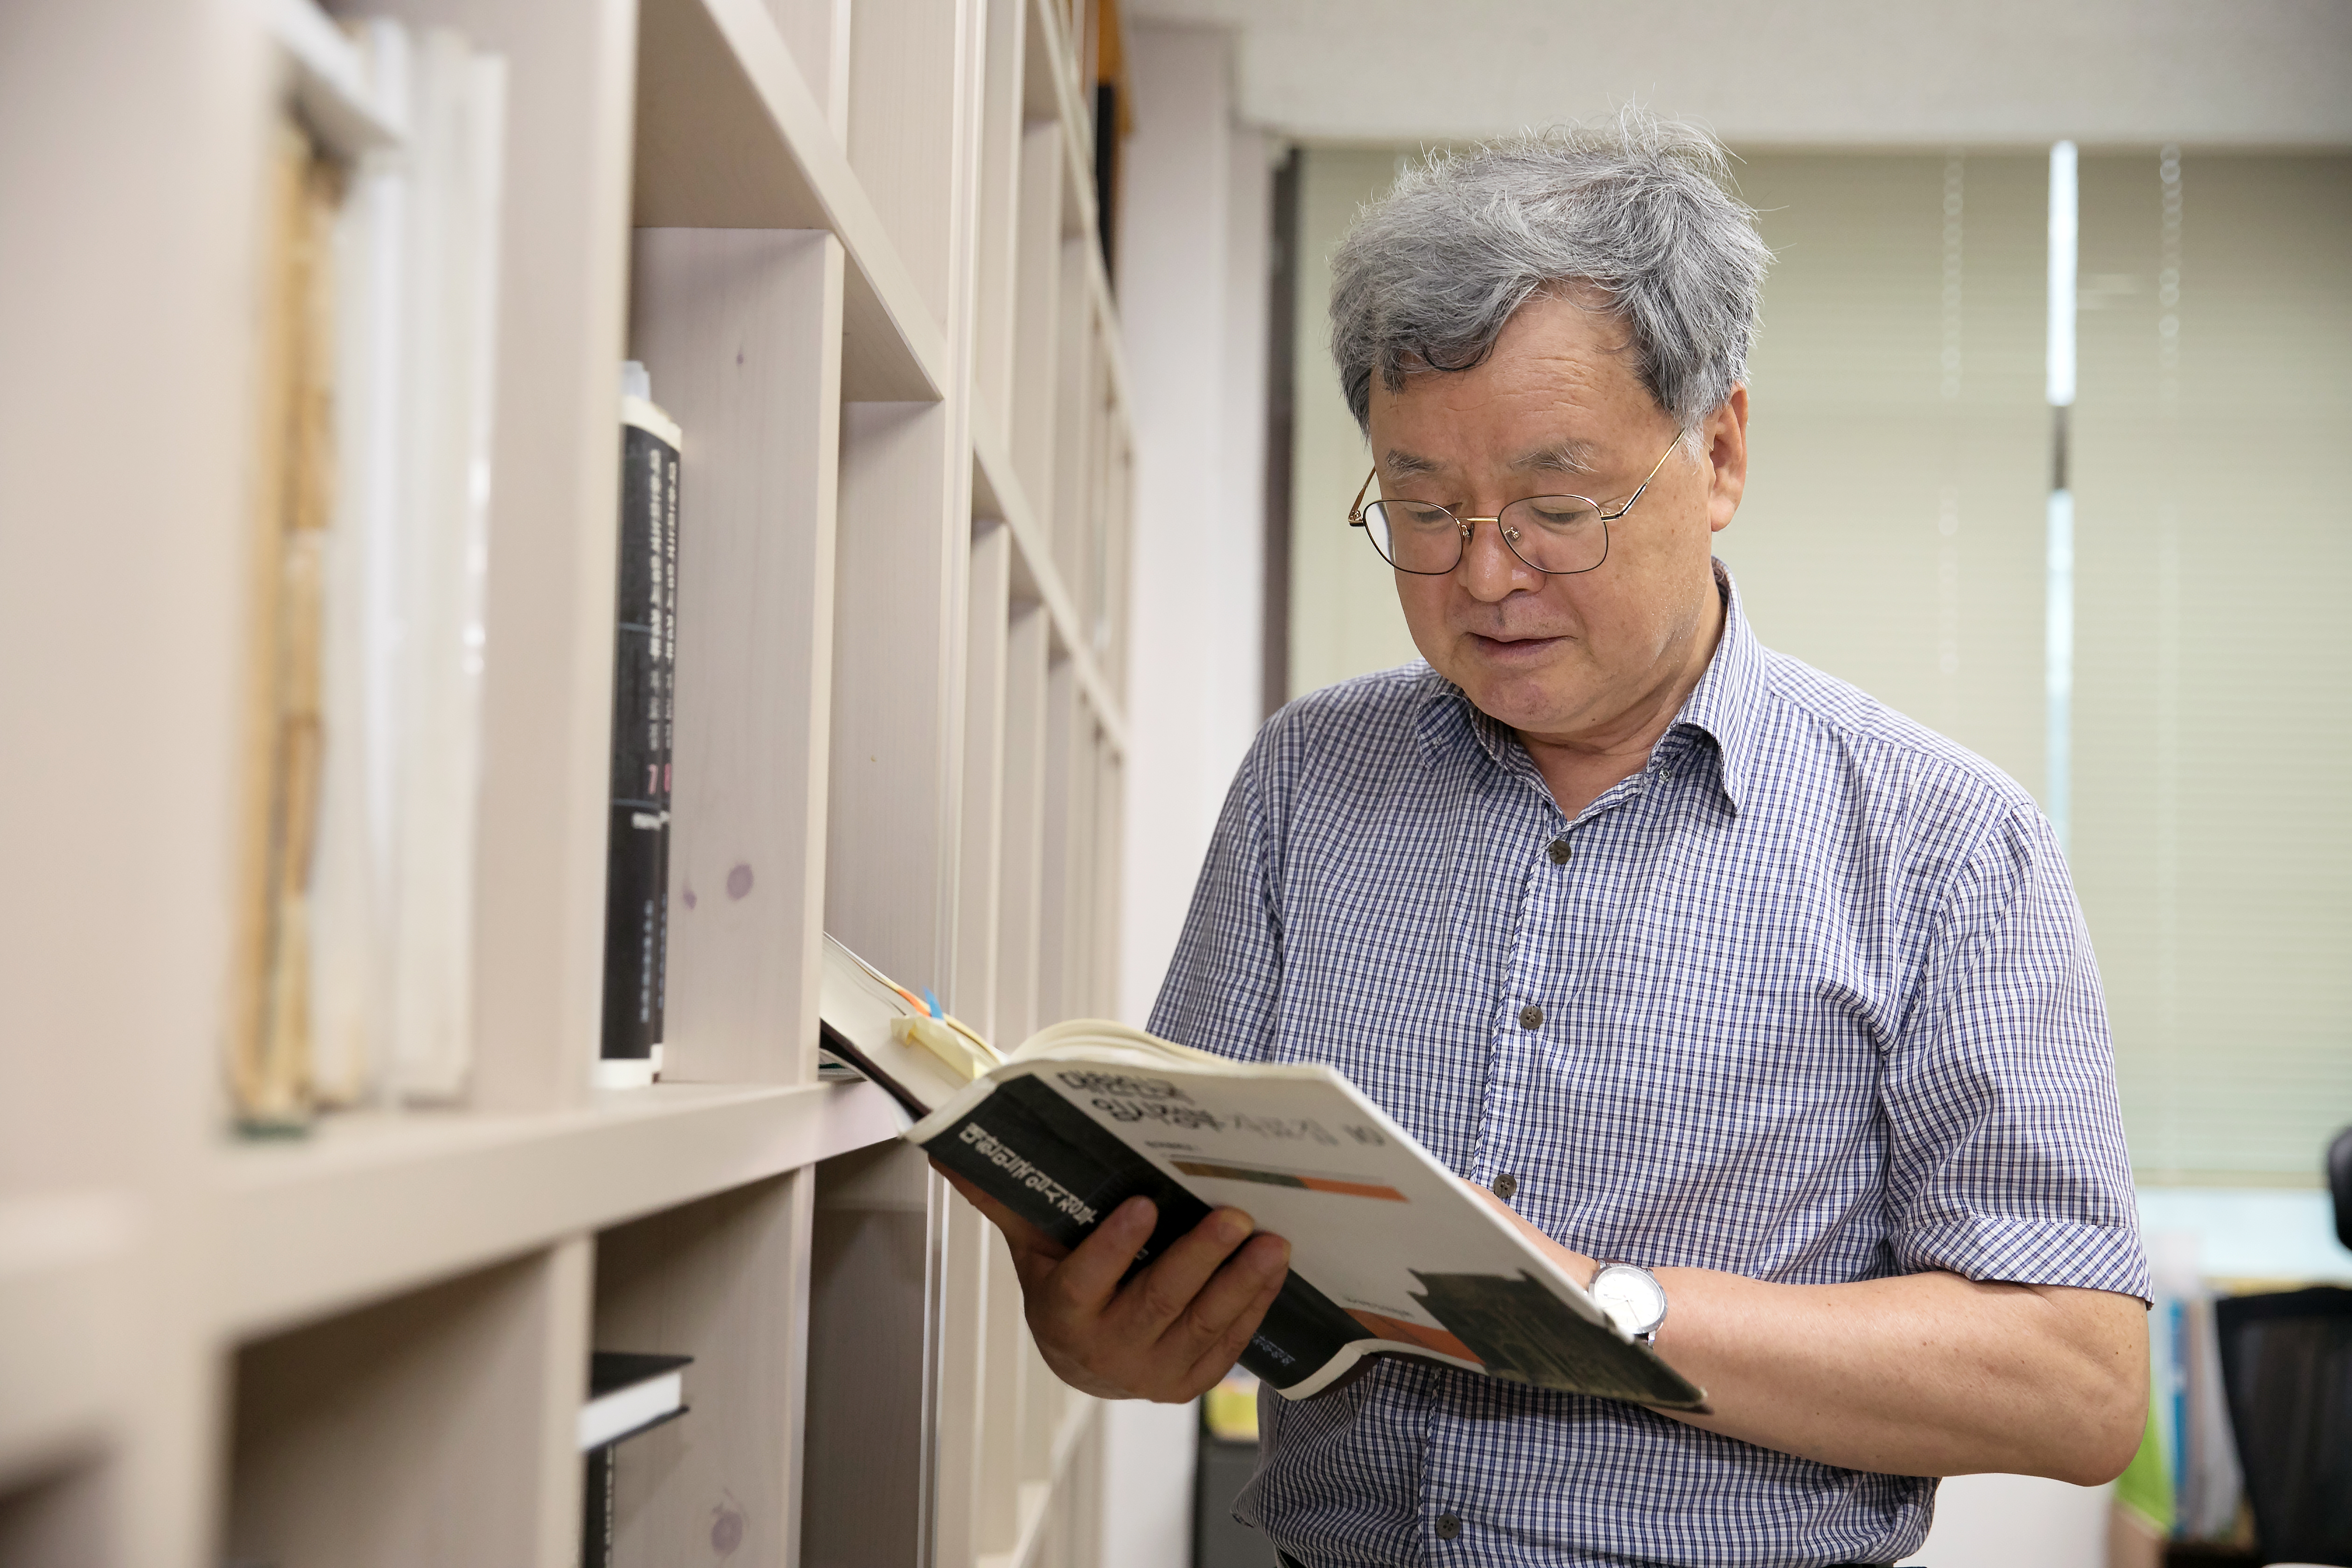
<svg viewBox="0 0 2352 1568">
<path fill-rule="evenodd" d="M 2171 1180 L 2352 1121 L 2347 254 L 2352 158 L 2082 160 L 2074 875 Z"/>
</svg>

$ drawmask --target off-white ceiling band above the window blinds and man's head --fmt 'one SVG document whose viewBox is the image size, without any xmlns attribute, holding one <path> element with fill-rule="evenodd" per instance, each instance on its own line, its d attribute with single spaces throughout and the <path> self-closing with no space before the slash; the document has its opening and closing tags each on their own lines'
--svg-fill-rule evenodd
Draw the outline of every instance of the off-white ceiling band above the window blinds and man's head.
<svg viewBox="0 0 2352 1568">
<path fill-rule="evenodd" d="M 1240 115 L 1308 141 L 1512 132 L 1639 99 L 1736 146 L 2352 146 L 2347 0 L 1124 0 L 1237 33 Z"/>
</svg>

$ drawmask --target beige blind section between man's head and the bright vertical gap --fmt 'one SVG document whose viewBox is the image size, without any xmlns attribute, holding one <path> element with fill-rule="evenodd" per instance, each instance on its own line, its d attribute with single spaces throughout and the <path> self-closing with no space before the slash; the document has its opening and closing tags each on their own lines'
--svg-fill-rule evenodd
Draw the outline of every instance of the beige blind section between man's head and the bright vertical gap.
<svg viewBox="0 0 2352 1568">
<path fill-rule="evenodd" d="M 1757 155 L 1778 261 L 1717 552 L 1757 635 L 2042 785 L 2042 158 Z"/>
</svg>

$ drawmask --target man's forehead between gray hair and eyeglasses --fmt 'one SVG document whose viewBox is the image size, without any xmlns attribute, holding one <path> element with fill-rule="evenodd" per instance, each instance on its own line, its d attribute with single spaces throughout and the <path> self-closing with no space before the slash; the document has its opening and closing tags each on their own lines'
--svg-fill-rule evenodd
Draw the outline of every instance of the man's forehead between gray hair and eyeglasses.
<svg viewBox="0 0 2352 1568">
<path fill-rule="evenodd" d="M 1465 371 L 1416 371 L 1404 390 L 1371 386 L 1371 437 L 1430 456 L 1491 456 L 1489 447 L 1609 440 L 1656 418 L 1635 374 L 1625 327 L 1555 294 L 1538 294 L 1503 324 L 1494 353 Z"/>
</svg>

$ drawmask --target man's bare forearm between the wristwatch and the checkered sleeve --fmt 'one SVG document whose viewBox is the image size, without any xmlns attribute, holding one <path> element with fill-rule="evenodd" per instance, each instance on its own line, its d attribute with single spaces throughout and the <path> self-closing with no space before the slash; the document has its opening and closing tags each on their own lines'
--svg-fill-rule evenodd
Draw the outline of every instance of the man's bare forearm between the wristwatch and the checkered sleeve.
<svg viewBox="0 0 2352 1568">
<path fill-rule="evenodd" d="M 2112 1479 L 2147 1415 L 2138 1300 L 1907 1274 L 1776 1286 L 1658 1269 L 1696 1427 L 1849 1469 Z"/>
</svg>

